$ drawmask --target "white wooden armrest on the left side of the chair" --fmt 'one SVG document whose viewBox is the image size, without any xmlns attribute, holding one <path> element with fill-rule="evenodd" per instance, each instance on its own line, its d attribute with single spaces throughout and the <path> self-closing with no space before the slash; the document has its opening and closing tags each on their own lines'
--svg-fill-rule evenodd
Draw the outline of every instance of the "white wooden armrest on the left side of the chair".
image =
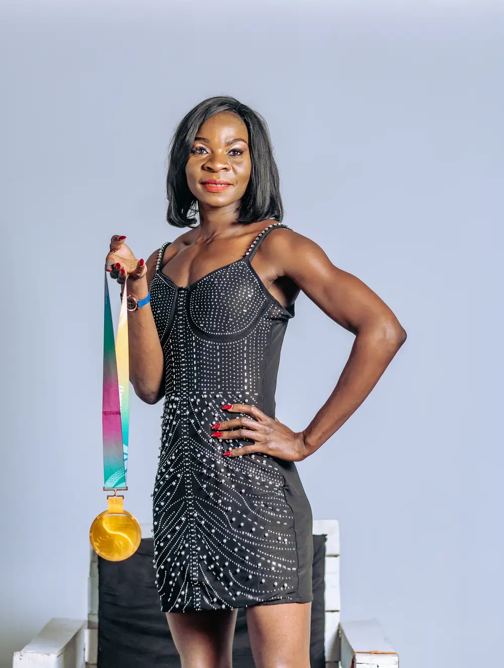
<svg viewBox="0 0 504 668">
<path fill-rule="evenodd" d="M 53 617 L 19 652 L 13 668 L 84 668 L 83 619 Z"/>
</svg>

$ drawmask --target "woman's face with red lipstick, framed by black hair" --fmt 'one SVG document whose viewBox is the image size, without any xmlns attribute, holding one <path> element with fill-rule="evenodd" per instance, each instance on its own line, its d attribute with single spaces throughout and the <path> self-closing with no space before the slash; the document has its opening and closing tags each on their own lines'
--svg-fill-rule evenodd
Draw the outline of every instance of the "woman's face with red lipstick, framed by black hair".
<svg viewBox="0 0 504 668">
<path fill-rule="evenodd" d="M 206 120 L 186 164 L 188 186 L 200 206 L 238 202 L 247 188 L 251 168 L 248 132 L 242 119 L 220 112 Z"/>
</svg>

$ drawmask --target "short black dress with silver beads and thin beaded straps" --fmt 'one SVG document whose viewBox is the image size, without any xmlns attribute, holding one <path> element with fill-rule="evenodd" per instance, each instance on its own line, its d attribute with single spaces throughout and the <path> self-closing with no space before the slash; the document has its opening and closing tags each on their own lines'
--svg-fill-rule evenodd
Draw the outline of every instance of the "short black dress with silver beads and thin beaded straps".
<svg viewBox="0 0 504 668">
<path fill-rule="evenodd" d="M 162 273 L 150 286 L 166 397 L 153 494 L 154 568 L 161 610 L 186 612 L 312 601 L 312 512 L 294 462 L 224 457 L 210 427 L 250 403 L 275 416 L 285 309 L 250 261 L 268 225 L 235 262 L 188 287 Z"/>
</svg>

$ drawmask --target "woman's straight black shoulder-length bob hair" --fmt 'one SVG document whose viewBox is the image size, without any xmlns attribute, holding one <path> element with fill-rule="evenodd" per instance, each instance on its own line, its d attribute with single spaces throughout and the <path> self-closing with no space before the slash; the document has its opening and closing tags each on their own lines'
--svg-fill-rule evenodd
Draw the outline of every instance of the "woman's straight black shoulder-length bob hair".
<svg viewBox="0 0 504 668">
<path fill-rule="evenodd" d="M 219 112 L 238 114 L 248 130 L 252 171 L 240 200 L 238 222 L 256 222 L 268 218 L 281 222 L 284 209 L 280 197 L 280 179 L 266 121 L 250 107 L 224 95 L 207 98 L 193 107 L 182 118 L 172 136 L 166 176 L 166 220 L 176 227 L 192 227 L 198 222 L 196 198 L 187 184 L 186 163 L 199 128 L 210 116 Z"/>
</svg>

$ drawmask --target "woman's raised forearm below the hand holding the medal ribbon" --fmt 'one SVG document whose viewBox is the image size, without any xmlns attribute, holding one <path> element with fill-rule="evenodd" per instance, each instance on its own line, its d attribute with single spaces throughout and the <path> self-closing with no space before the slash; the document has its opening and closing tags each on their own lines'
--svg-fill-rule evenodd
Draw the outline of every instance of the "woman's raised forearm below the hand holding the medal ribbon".
<svg viewBox="0 0 504 668">
<path fill-rule="evenodd" d="M 148 295 L 146 277 L 128 281 L 126 289 L 128 295 L 144 299 Z M 130 381 L 142 401 L 156 403 L 162 388 L 164 359 L 150 303 L 128 311 L 128 340 Z"/>
</svg>

